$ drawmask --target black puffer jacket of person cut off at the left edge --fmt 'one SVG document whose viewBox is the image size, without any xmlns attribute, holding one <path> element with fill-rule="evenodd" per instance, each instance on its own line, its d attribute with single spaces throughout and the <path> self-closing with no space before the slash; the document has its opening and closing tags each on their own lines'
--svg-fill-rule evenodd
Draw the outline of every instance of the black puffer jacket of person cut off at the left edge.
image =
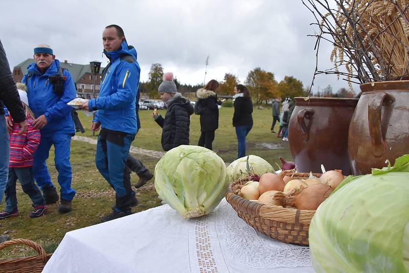
<svg viewBox="0 0 409 273">
<path fill-rule="evenodd" d="M 0 115 L 4 115 L 6 105 L 13 121 L 20 123 L 26 119 L 24 108 L 18 96 L 17 87 L 10 71 L 9 62 L 0 40 Z"/>
</svg>

